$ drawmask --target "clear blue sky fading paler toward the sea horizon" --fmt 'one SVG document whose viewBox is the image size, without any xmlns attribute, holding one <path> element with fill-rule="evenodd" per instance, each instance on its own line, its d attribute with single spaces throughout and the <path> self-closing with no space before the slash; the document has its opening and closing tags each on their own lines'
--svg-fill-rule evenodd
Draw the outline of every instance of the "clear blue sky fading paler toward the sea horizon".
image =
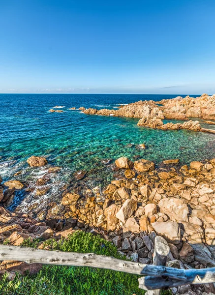
<svg viewBox="0 0 215 295">
<path fill-rule="evenodd" d="M 0 0 L 0 93 L 215 93 L 215 0 Z"/>
</svg>

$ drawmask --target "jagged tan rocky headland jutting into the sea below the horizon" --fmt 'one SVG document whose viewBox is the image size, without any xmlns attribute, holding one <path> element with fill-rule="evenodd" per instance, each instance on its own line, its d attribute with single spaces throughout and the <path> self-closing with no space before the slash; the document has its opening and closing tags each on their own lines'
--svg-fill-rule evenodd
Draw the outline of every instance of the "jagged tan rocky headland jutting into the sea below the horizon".
<svg viewBox="0 0 215 295">
<path fill-rule="evenodd" d="M 178 96 L 173 99 L 163 99 L 159 102 L 138 101 L 118 110 L 109 109 L 86 109 L 84 114 L 100 116 L 116 116 L 126 118 L 140 118 L 138 126 L 157 128 L 162 130 L 187 129 L 193 131 L 206 131 L 210 129 L 201 128 L 199 121 L 188 120 L 189 118 L 201 118 L 206 120 L 215 119 L 215 94 L 202 94 L 200 97 Z M 184 123 L 163 123 L 163 119 L 188 120 Z M 206 124 L 213 124 L 213 121 L 205 121 Z M 212 133 L 213 130 L 212 130 Z"/>
</svg>

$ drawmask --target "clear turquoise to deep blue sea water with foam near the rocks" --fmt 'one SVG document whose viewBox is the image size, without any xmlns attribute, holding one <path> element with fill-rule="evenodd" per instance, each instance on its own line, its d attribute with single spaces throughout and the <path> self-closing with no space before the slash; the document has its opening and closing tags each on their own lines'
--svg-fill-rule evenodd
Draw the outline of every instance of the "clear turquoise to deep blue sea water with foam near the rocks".
<svg viewBox="0 0 215 295">
<path fill-rule="evenodd" d="M 31 155 L 46 156 L 50 165 L 61 166 L 51 180 L 46 197 L 60 197 L 61 187 L 74 181 L 73 172 L 84 169 L 90 187 L 104 185 L 113 178 L 112 163 L 121 156 L 135 160 L 137 156 L 159 163 L 180 158 L 181 163 L 215 157 L 215 136 L 192 131 L 162 131 L 138 127 L 138 119 L 90 116 L 68 108 L 81 106 L 117 108 L 138 100 L 173 98 L 177 95 L 114 94 L 0 94 L 0 174 L 35 188 L 35 180 L 47 173 L 44 168 L 29 168 Z M 50 113 L 56 105 L 65 106 L 64 113 Z M 213 128 L 213 126 L 212 126 Z M 138 149 L 138 144 L 147 149 Z M 110 164 L 101 162 L 110 159 Z M 35 192 L 20 192 L 13 203 L 33 202 Z M 57 196 L 57 197 L 56 197 Z M 34 200 L 35 201 L 35 200 Z M 41 199 L 37 200 L 38 202 Z"/>
</svg>

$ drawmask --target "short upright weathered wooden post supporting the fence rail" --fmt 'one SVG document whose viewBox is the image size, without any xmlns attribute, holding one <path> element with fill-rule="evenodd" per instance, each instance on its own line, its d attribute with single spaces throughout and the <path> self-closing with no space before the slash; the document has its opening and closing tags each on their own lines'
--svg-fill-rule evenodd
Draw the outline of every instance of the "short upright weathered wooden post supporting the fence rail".
<svg viewBox="0 0 215 295">
<path fill-rule="evenodd" d="M 165 266 L 167 255 L 169 254 L 169 245 L 167 241 L 162 236 L 155 236 L 154 240 L 154 257 L 153 257 L 153 265 L 154 266 Z M 142 277 L 139 278 L 139 288 L 145 289 L 147 279 L 151 277 Z M 160 289 L 156 290 L 148 290 L 146 295 L 160 295 Z"/>
</svg>

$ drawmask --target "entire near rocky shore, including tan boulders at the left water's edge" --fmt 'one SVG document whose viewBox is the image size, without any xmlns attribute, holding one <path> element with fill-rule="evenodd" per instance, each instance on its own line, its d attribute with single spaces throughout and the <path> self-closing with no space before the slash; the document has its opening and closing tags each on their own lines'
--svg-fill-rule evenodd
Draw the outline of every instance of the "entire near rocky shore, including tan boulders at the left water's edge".
<svg viewBox="0 0 215 295">
<path fill-rule="evenodd" d="M 32 156 L 28 163 L 40 167 L 47 165 L 47 160 Z M 51 169 L 57 173 L 60 168 Z M 111 240 L 120 253 L 136 262 L 151 264 L 154 237 L 160 235 L 170 245 L 168 266 L 215 266 L 215 159 L 183 166 L 179 159 L 172 159 L 156 168 L 148 160 L 132 162 L 122 157 L 115 161 L 115 170 L 124 176 L 111 181 L 103 191 L 95 187 L 80 194 L 78 189 L 66 189 L 61 204 L 50 208 L 50 214 L 41 222 L 5 209 L 23 184 L 18 180 L 2 183 L 1 243 L 20 245 L 26 238 L 59 239 L 81 230 Z M 76 177 L 80 181 L 85 173 Z M 39 248 L 43 248 L 42 242 Z M 0 272 L 7 271 L 12 278 L 14 271 L 24 273 L 26 267 L 23 263 L 2 262 Z M 38 270 L 37 266 L 31 267 L 32 273 Z M 207 288 L 214 292 L 212 285 Z"/>
</svg>

